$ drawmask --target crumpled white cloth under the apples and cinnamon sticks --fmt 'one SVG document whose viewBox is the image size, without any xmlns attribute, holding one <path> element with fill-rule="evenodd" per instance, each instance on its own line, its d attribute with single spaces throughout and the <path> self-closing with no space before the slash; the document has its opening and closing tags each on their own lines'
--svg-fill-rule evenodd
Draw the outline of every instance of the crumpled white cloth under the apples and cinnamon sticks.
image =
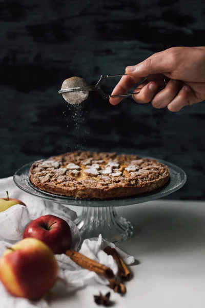
<svg viewBox="0 0 205 308">
<path fill-rule="evenodd" d="M 73 223 L 76 213 L 69 208 L 50 201 L 44 201 L 38 197 L 27 194 L 17 188 L 13 178 L 0 179 L 0 198 L 6 197 L 6 190 L 9 191 L 10 198 L 23 201 L 27 206 L 15 205 L 0 213 L 0 257 L 4 253 L 8 244 L 13 244 L 22 239 L 26 225 L 33 219 L 42 215 L 52 214 L 65 219 L 72 230 L 72 248 L 76 249 L 80 243 L 78 228 Z M 113 273 L 117 273 L 117 264 L 112 256 L 108 256 L 104 247 L 110 245 L 117 249 L 120 256 L 130 265 L 134 262 L 134 257 L 122 252 L 114 244 L 104 240 L 99 235 L 98 238 L 86 239 L 80 248 L 80 253 L 85 256 L 109 266 Z M 69 291 L 74 291 L 91 284 L 107 284 L 105 278 L 99 277 L 94 272 L 83 269 L 73 262 L 65 254 L 55 255 L 59 266 L 59 277 L 67 282 Z M 52 290 L 50 291 L 52 292 Z M 0 307 L 1 308 L 40 308 L 49 307 L 47 297 L 38 301 L 29 301 L 27 299 L 16 298 L 5 290 L 0 282 Z"/>
</svg>

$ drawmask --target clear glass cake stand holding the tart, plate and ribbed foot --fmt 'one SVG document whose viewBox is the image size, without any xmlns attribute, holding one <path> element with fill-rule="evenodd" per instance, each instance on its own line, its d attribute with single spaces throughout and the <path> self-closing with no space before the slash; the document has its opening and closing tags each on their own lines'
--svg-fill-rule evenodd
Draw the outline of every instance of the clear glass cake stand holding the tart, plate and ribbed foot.
<svg viewBox="0 0 205 308">
<path fill-rule="evenodd" d="M 172 194 L 172 192 L 180 189 L 186 183 L 187 176 L 182 169 L 171 163 L 162 160 L 158 161 L 168 165 L 170 169 L 169 182 L 162 188 L 149 194 L 129 198 L 88 200 L 50 194 L 34 187 L 30 182 L 29 170 L 32 163 L 18 169 L 13 179 L 17 187 L 35 197 L 60 203 L 66 207 L 69 205 L 83 206 L 82 213 L 75 220 L 82 239 L 98 237 L 101 234 L 103 238 L 111 242 L 118 242 L 127 240 L 133 235 L 133 226 L 125 218 L 117 216 L 116 206 L 127 206 L 156 200 Z"/>
</svg>

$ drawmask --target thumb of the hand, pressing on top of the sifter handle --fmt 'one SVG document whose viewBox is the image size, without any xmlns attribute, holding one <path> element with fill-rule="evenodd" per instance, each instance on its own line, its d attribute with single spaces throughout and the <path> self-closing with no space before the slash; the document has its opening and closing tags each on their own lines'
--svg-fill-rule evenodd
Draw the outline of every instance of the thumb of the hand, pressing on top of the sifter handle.
<svg viewBox="0 0 205 308">
<path fill-rule="evenodd" d="M 170 73 L 173 70 L 172 59 L 167 54 L 159 52 L 137 65 L 126 67 L 126 73 L 141 78 L 150 74 Z"/>
</svg>

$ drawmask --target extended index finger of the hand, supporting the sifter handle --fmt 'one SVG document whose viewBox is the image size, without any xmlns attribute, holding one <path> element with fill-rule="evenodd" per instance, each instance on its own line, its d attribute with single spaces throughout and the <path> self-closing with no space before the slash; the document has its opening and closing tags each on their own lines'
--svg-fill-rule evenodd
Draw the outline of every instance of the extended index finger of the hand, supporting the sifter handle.
<svg viewBox="0 0 205 308">
<path fill-rule="evenodd" d="M 134 86 L 134 84 L 138 83 L 141 79 L 135 78 L 133 76 L 122 76 L 111 95 L 121 95 L 127 94 L 127 92 Z M 110 103 L 112 105 L 117 105 L 124 97 L 119 98 L 110 98 Z"/>
</svg>

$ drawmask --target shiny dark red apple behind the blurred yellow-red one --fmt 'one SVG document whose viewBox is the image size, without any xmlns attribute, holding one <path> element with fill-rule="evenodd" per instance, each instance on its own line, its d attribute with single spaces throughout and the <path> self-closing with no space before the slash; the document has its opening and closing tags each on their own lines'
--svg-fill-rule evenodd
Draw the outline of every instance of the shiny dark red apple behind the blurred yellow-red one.
<svg viewBox="0 0 205 308">
<path fill-rule="evenodd" d="M 23 238 L 32 237 L 48 245 L 54 254 L 64 254 L 70 248 L 72 235 L 69 224 L 54 215 L 44 215 L 31 221 Z"/>
</svg>

